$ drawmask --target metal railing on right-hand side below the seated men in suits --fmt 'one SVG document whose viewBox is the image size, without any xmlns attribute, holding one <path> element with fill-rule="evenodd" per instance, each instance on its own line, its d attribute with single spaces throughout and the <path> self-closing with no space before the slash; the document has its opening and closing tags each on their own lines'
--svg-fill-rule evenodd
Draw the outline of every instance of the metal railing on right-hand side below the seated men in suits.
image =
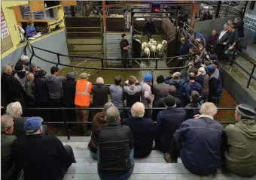
<svg viewBox="0 0 256 180">
<path fill-rule="evenodd" d="M 233 55 L 234 55 L 234 54 L 235 54 L 235 51 L 234 51 Z M 250 86 L 250 83 L 251 83 L 251 79 L 256 80 L 256 77 L 254 76 L 254 71 L 255 71 L 256 63 L 255 63 L 255 62 L 252 62 L 248 57 L 246 57 L 246 56 L 243 55 L 242 53 L 238 53 L 238 55 L 240 55 L 242 58 L 245 58 L 245 60 L 246 60 L 247 62 L 250 62 L 251 65 L 253 65 L 252 70 L 251 70 L 251 72 L 247 71 L 245 68 L 243 68 L 241 65 L 239 65 L 239 63 L 237 63 L 237 62 L 235 61 L 235 59 L 232 58 L 231 63 L 230 63 L 230 71 L 232 71 L 233 64 L 235 64 L 235 65 L 237 65 L 239 68 L 241 68 L 242 71 L 245 72 L 245 74 L 248 74 L 249 79 L 248 79 L 248 83 L 247 83 L 247 86 L 246 86 L 246 88 L 248 89 L 248 87 Z"/>
</svg>

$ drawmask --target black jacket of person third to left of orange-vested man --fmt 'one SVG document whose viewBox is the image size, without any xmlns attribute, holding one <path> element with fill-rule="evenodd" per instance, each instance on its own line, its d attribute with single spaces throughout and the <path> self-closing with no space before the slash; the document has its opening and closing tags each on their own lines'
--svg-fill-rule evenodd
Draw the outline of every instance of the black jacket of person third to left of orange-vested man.
<svg viewBox="0 0 256 180">
<path fill-rule="evenodd" d="M 35 99 L 38 102 L 47 102 L 49 100 L 49 91 L 44 77 L 38 77 L 35 80 Z"/>
</svg>

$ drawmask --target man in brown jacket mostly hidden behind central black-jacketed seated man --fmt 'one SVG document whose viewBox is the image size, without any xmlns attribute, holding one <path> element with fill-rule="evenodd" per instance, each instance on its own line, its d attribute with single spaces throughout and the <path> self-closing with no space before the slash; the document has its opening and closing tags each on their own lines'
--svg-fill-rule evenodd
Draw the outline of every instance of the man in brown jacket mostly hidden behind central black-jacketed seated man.
<svg viewBox="0 0 256 180">
<path fill-rule="evenodd" d="M 92 122 L 92 136 L 88 147 L 90 148 L 90 155 L 96 160 L 98 160 L 98 148 L 96 146 L 95 132 L 97 129 L 106 124 L 107 121 L 105 120 L 105 112 L 108 110 L 109 107 L 114 107 L 114 104 L 112 104 L 111 102 L 106 103 L 103 107 L 103 111 L 96 113 Z"/>
</svg>

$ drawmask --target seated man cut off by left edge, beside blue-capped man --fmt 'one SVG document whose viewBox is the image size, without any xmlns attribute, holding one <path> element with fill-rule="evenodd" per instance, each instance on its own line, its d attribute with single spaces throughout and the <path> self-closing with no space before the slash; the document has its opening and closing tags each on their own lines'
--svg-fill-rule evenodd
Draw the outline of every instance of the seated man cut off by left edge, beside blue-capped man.
<svg viewBox="0 0 256 180">
<path fill-rule="evenodd" d="M 15 179 L 14 169 L 14 141 L 16 136 L 11 135 L 14 131 L 14 121 L 9 115 L 1 116 L 1 179 Z"/>
</svg>

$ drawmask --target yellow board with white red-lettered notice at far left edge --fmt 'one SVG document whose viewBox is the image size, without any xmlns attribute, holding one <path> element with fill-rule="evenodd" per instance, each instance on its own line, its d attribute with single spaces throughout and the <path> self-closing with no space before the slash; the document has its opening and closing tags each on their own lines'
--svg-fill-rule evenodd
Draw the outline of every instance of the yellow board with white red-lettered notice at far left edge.
<svg viewBox="0 0 256 180">
<path fill-rule="evenodd" d="M 1 9 L 1 54 L 13 46 L 11 34 L 5 20 L 5 15 Z"/>
</svg>

